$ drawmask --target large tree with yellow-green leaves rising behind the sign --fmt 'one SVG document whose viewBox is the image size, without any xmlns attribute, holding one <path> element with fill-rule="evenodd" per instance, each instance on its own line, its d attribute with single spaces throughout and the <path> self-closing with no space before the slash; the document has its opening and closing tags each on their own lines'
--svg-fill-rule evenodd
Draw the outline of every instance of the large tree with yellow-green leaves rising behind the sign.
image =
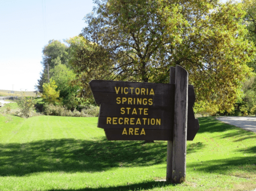
<svg viewBox="0 0 256 191">
<path fill-rule="evenodd" d="M 83 36 L 101 47 L 113 80 L 168 82 L 179 64 L 201 102 L 232 109 L 254 46 L 245 40 L 241 3 L 172 0 L 95 0 Z M 87 68 L 87 57 L 79 68 Z M 97 58 L 99 59 L 99 58 Z M 99 61 L 97 61 L 99 63 Z M 96 64 L 97 65 L 97 64 Z M 95 67 L 97 68 L 97 67 Z M 90 68 L 90 69 L 95 69 Z M 104 67 L 103 67 L 104 68 Z M 98 68 L 97 68 L 98 69 Z"/>
</svg>

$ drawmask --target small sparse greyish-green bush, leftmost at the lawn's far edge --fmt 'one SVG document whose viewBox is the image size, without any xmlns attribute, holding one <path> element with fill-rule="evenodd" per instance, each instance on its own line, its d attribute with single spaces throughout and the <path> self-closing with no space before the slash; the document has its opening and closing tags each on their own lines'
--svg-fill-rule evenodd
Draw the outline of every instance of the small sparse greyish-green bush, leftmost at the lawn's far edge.
<svg viewBox="0 0 256 191">
<path fill-rule="evenodd" d="M 35 99 L 34 97 L 20 97 L 17 101 L 18 107 L 20 108 L 20 116 L 28 118 L 30 113 L 35 109 Z"/>
</svg>

